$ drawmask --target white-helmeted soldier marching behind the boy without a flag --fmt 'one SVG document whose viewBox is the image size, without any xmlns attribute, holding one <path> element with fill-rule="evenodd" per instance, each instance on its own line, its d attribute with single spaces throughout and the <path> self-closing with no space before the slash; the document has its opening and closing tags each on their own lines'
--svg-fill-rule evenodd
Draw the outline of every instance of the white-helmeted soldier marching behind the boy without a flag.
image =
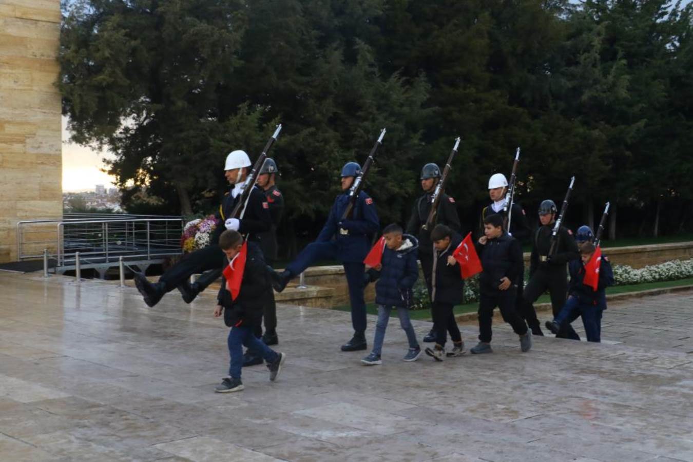
<svg viewBox="0 0 693 462">
<path fill-rule="evenodd" d="M 491 175 L 491 178 L 489 178 L 489 198 L 491 199 L 491 203 L 485 206 L 481 211 L 480 230 L 482 235 L 484 234 L 484 220 L 486 220 L 486 217 L 489 217 L 489 215 L 493 215 L 494 213 L 500 213 L 501 215 L 503 214 L 503 208 L 505 208 L 505 193 L 507 193 L 507 189 L 508 180 L 505 175 L 502 173 L 495 173 Z M 504 221 L 504 226 L 506 226 L 507 220 Z M 529 229 L 529 223 L 527 222 L 527 215 L 525 215 L 525 211 L 517 202 L 514 202 L 511 208 L 510 229 L 508 230 L 508 234 L 520 242 L 527 242 L 529 240 L 529 236 L 532 234 L 532 230 Z M 536 317 L 534 305 L 527 305 L 523 299 L 523 286 L 525 285 L 524 264 L 522 266 L 519 281 L 520 283 L 518 283 L 517 287 L 515 309 L 518 314 L 520 314 L 520 316 L 527 322 L 527 326 L 529 326 L 529 328 L 532 330 L 532 334 L 544 335 L 543 332 L 541 332 L 541 326 Z"/>
</svg>

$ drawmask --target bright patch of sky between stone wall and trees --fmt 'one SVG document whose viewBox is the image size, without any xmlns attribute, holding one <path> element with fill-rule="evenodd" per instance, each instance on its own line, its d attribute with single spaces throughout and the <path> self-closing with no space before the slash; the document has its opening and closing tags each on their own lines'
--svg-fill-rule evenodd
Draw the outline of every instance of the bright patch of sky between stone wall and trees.
<svg viewBox="0 0 693 462">
<path fill-rule="evenodd" d="M 83 147 L 69 143 L 67 118 L 62 118 L 62 191 L 71 193 L 94 190 L 97 184 L 106 188 L 114 187 L 114 178 L 100 169 L 104 167 L 103 158 L 110 157 L 107 152 L 96 148 Z"/>
</svg>

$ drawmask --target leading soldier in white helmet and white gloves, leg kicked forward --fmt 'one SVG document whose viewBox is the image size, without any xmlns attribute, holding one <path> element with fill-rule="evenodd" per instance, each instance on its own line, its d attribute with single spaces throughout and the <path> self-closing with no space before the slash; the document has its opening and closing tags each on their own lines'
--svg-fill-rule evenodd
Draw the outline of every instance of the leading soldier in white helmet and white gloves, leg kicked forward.
<svg viewBox="0 0 693 462">
<path fill-rule="evenodd" d="M 224 252 L 218 246 L 219 236 L 225 229 L 234 229 L 245 234 L 247 239 L 252 242 L 258 242 L 260 233 L 272 229 L 272 217 L 267 198 L 261 188 L 257 186 L 254 186 L 250 192 L 243 217 L 229 217 L 240 197 L 243 182 L 250 166 L 250 159 L 245 151 L 232 151 L 226 157 L 224 175 L 231 185 L 231 190 L 224 195 L 216 213 L 217 226 L 209 246 L 186 255 L 179 263 L 167 269 L 156 283 L 147 281 L 142 273 L 135 274 L 134 281 L 137 290 L 142 294 L 144 302 L 148 306 L 152 307 L 159 303 L 166 292 L 170 292 L 176 287 L 179 288 L 186 303 L 190 303 L 199 292 L 216 281 L 226 265 Z M 208 272 L 209 270 L 212 271 Z M 191 288 L 188 283 L 190 276 L 204 272 L 207 273 L 203 274 Z"/>
</svg>

